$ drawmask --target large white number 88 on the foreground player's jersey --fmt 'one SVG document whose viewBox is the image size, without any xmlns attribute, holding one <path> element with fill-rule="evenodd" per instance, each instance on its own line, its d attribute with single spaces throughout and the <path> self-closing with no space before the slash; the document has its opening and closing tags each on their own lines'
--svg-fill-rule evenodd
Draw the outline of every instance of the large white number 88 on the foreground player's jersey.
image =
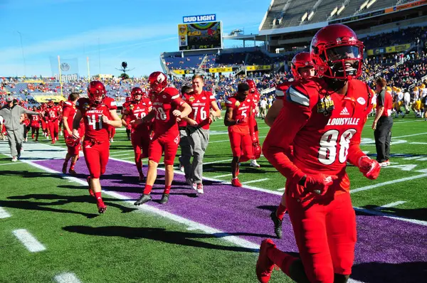
<svg viewBox="0 0 427 283">
<path fill-rule="evenodd" d="M 338 160 L 340 163 L 347 161 L 350 140 L 356 134 L 356 129 L 347 129 L 339 137 L 336 129 L 330 129 L 320 138 L 319 161 L 321 164 L 331 165 L 337 159 L 337 141 L 339 138 Z"/>
</svg>

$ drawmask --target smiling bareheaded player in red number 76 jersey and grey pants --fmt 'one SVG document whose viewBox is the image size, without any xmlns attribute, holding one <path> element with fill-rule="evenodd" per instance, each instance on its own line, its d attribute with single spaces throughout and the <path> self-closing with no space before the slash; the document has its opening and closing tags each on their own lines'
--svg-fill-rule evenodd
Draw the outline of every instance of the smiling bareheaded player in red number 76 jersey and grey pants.
<svg viewBox="0 0 427 283">
<path fill-rule="evenodd" d="M 188 133 L 191 152 L 184 152 L 181 155 L 182 165 L 186 182 L 197 191 L 203 191 L 203 156 L 209 143 L 209 126 L 211 124 L 211 113 L 214 116 L 221 116 L 221 110 L 216 105 L 216 100 L 212 92 L 203 89 L 204 78 L 202 75 L 194 75 L 191 78 L 193 92 L 184 95 L 183 100 L 191 107 L 189 117 L 185 117 L 187 122 L 186 131 Z M 193 161 L 190 163 L 192 153 Z"/>
</svg>

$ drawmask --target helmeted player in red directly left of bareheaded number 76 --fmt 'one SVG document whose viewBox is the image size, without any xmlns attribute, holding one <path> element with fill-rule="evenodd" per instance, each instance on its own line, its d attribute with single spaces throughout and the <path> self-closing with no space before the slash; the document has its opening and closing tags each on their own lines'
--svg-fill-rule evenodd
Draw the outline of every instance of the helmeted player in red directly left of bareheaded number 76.
<svg viewBox="0 0 427 283">
<path fill-rule="evenodd" d="M 144 118 L 132 122 L 132 124 L 137 126 L 154 118 L 154 135 L 148 149 L 147 181 L 144 192 L 135 202 L 135 205 L 141 205 L 152 200 L 150 193 L 157 178 L 157 166 L 162 157 L 162 151 L 164 151 L 165 174 L 164 192 L 160 203 L 169 201 L 169 191 L 174 178 L 174 159 L 179 145 L 179 129 L 176 120 L 186 117 L 191 112 L 191 107 L 179 97 L 178 90 L 167 87 L 167 77 L 164 73 L 154 72 L 149 75 L 148 80 L 153 97 L 152 111 Z"/>
</svg>

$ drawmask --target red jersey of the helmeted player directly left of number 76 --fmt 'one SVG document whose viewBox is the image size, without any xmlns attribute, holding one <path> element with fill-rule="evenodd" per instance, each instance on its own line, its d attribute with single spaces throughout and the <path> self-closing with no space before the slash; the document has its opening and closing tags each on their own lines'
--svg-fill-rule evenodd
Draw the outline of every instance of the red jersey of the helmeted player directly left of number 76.
<svg viewBox="0 0 427 283">
<path fill-rule="evenodd" d="M 174 87 L 167 87 L 153 100 L 153 110 L 156 112 L 154 119 L 154 134 L 160 136 L 167 132 L 178 134 L 178 124 L 172 114 L 174 110 L 183 105 L 184 100 L 179 97 L 179 92 Z"/>
</svg>

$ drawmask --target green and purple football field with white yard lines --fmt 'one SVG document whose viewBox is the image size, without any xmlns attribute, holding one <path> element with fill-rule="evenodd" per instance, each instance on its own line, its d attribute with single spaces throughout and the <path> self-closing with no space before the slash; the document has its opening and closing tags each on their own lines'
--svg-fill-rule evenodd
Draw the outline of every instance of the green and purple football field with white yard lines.
<svg viewBox="0 0 427 283">
<path fill-rule="evenodd" d="M 370 126 L 371 119 L 362 150 L 374 158 Z M 269 128 L 259 119 L 258 129 L 262 142 Z M 391 166 L 375 181 L 348 167 L 359 240 L 352 282 L 426 278 L 426 137 L 427 122 L 413 115 L 394 119 Z M 114 140 L 101 181 L 104 215 L 88 195 L 83 158 L 77 176 L 59 173 L 63 137 L 55 145 L 44 137 L 27 142 L 16 163 L 8 144 L 0 143 L 0 282 L 257 282 L 262 239 L 297 251 L 287 216 L 283 239 L 275 239 L 268 215 L 280 202 L 285 178 L 265 158 L 258 160 L 259 169 L 242 164 L 243 188 L 228 186 L 232 156 L 222 119 L 211 125 L 204 196 L 196 197 L 176 170 L 166 205 L 133 205 L 143 184 L 123 128 Z M 155 200 L 163 181 L 159 169 Z M 406 272 L 413 278 L 404 277 Z M 271 282 L 291 280 L 275 271 Z"/>
</svg>

